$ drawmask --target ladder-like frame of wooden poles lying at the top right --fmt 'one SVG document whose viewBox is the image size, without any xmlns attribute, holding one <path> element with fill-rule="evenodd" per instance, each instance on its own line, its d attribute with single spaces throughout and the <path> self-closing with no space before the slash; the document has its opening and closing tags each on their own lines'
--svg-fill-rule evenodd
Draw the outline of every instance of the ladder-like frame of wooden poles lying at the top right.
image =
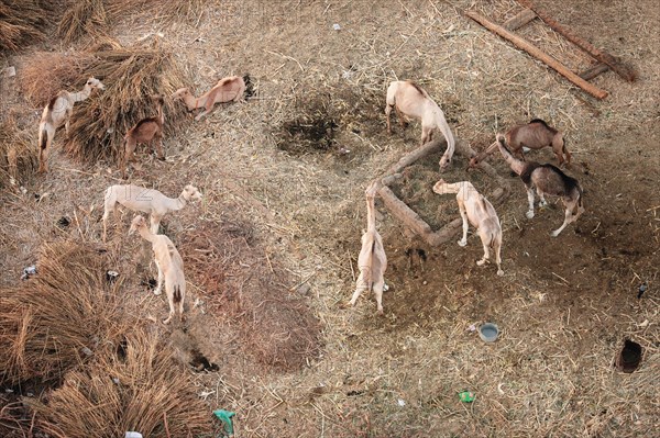
<svg viewBox="0 0 660 438">
<path fill-rule="evenodd" d="M 518 0 L 518 2 L 522 4 L 526 9 L 524 9 L 521 12 L 519 12 L 512 19 L 507 20 L 503 25 L 493 23 L 492 21 L 490 21 L 488 19 L 475 11 L 466 11 L 465 15 L 476 21 L 479 24 L 486 27 L 488 31 L 509 41 L 516 47 L 521 48 L 535 58 L 543 61 L 548 67 L 553 68 L 554 70 L 557 70 L 557 72 L 559 72 L 560 75 L 562 75 L 571 82 L 573 82 L 574 85 L 576 85 L 578 87 L 580 87 L 596 99 L 605 99 L 607 97 L 607 91 L 602 90 L 593 83 L 588 82 L 588 80 L 597 77 L 598 75 L 602 75 L 603 72 L 612 69 L 627 81 L 634 81 L 636 79 L 632 69 L 624 65 L 614 56 L 596 48 L 586 40 L 578 36 L 570 29 L 558 23 L 543 9 L 535 5 L 530 0 Z M 568 41 L 586 52 L 601 64 L 597 64 L 594 67 L 591 67 L 580 74 L 575 74 L 552 56 L 546 54 L 540 48 L 529 43 L 527 40 L 521 38 L 520 36 L 514 33 L 515 30 L 522 27 L 537 16 L 541 19 L 546 24 L 548 24 L 553 31 L 556 31 L 564 38 L 566 38 Z"/>
</svg>

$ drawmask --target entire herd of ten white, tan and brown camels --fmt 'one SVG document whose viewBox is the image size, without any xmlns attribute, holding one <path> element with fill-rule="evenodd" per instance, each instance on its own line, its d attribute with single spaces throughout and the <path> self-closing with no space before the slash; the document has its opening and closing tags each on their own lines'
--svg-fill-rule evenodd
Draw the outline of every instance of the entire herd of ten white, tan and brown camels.
<svg viewBox="0 0 660 438">
<path fill-rule="evenodd" d="M 78 92 L 61 91 L 44 108 L 41 123 L 38 125 L 38 165 L 40 172 L 47 171 L 47 151 L 51 148 L 55 131 L 65 125 L 66 133 L 69 132 L 69 121 L 76 102 L 89 98 L 92 89 L 103 90 L 105 86 L 96 78 L 89 78 L 82 90 Z M 240 101 L 245 92 L 245 79 L 232 76 L 221 79 L 207 93 L 196 98 L 187 88 L 177 90 L 172 98 L 182 100 L 188 111 L 204 108 L 195 116 L 196 121 L 212 111 L 216 103 Z M 122 178 L 127 177 L 127 166 L 133 158 L 133 153 L 139 144 L 147 144 L 155 150 L 160 159 L 165 159 L 163 150 L 163 97 L 154 97 L 157 115 L 139 121 L 128 131 L 123 142 L 123 155 L 120 159 Z M 405 117 L 414 117 L 421 121 L 421 144 L 433 139 L 433 135 L 440 132 L 447 141 L 447 150 L 440 159 L 440 171 L 451 165 L 454 153 L 455 141 L 447 124 L 444 113 L 438 104 L 411 81 L 393 81 L 387 89 L 385 114 L 387 116 L 387 131 L 392 133 L 389 114 L 392 109 L 405 125 Z M 473 157 L 470 167 L 479 166 L 486 156 L 499 149 L 504 160 L 512 170 L 517 173 L 527 189 L 529 210 L 526 215 L 532 218 L 535 214 L 535 189 L 540 198 L 539 206 L 547 204 L 546 195 L 560 196 L 565 206 L 563 224 L 551 233 L 558 236 L 566 225 L 578 220 L 584 212 L 582 206 L 582 188 L 578 180 L 565 175 L 558 167 L 550 164 L 538 164 L 525 160 L 522 148 L 540 149 L 552 147 L 559 165 L 571 161 L 571 154 L 565 147 L 561 132 L 549 126 L 542 120 L 535 119 L 526 125 L 515 126 L 504 135 L 497 134 L 496 141 L 484 151 Z M 565 159 L 564 159 L 565 156 Z M 350 301 L 354 305 L 358 297 L 365 290 L 373 290 L 378 313 L 383 313 L 383 291 L 387 290 L 384 274 L 387 269 L 387 257 L 383 247 L 383 239 L 376 231 L 374 199 L 378 189 L 378 182 L 373 182 L 366 189 L 367 228 L 362 235 L 362 248 L 358 258 L 360 276 L 356 289 Z M 502 226 L 495 209 L 486 198 L 477 192 L 470 181 L 454 183 L 439 180 L 433 186 L 433 192 L 438 194 L 455 193 L 459 211 L 463 220 L 463 235 L 459 240 L 460 246 L 468 244 L 469 223 L 476 228 L 484 248 L 484 256 L 476 263 L 483 266 L 491 259 L 491 249 L 495 254 L 497 274 L 503 276 L 501 263 Z M 168 198 L 154 189 L 146 189 L 133 184 L 111 186 L 106 191 L 103 211 L 103 242 L 107 238 L 107 221 L 110 212 L 114 213 L 116 224 L 119 223 L 118 204 L 124 207 L 143 212 L 150 215 L 150 224 L 142 215 L 136 215 L 129 229 L 129 234 L 138 232 L 142 238 L 152 244 L 155 263 L 158 270 L 158 280 L 155 294 L 161 294 L 163 284 L 169 302 L 169 315 L 163 321 L 168 324 L 176 314 L 178 304 L 179 318 L 184 316 L 184 300 L 186 296 L 186 280 L 184 276 L 184 262 L 172 240 L 158 233 L 160 222 L 169 212 L 178 211 L 186 206 L 189 201 L 199 201 L 201 193 L 193 186 L 186 186 L 178 198 Z"/>
</svg>

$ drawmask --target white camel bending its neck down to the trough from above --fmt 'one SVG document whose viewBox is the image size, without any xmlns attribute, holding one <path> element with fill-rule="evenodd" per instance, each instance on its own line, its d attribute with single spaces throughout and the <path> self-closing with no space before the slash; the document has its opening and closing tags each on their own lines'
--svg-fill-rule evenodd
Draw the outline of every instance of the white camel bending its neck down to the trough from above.
<svg viewBox="0 0 660 438">
<path fill-rule="evenodd" d="M 417 83 L 406 80 L 395 80 L 387 88 L 385 115 L 387 117 L 387 132 L 392 134 L 389 113 L 395 109 L 402 126 L 405 126 L 404 115 L 421 120 L 421 144 L 430 142 L 436 131 L 440 131 L 447 139 L 447 150 L 440 159 L 440 170 L 451 165 L 455 149 L 455 141 L 440 106 Z"/>
</svg>

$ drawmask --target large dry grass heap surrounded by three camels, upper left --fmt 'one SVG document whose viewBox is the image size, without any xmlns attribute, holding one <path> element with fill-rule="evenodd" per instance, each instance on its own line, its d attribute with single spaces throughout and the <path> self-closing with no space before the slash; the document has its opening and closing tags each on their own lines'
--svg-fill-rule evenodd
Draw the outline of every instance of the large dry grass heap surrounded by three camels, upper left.
<svg viewBox="0 0 660 438">
<path fill-rule="evenodd" d="M 124 48 L 100 45 L 90 52 L 86 76 L 103 81 L 106 90 L 74 106 L 73 135 L 65 150 L 73 157 L 95 162 L 117 159 L 122 154 L 123 135 L 141 119 L 153 116 L 151 96 L 170 96 L 186 82 L 170 52 L 154 42 L 151 47 Z M 187 122 L 185 108 L 165 100 L 165 138 L 182 132 Z"/>
</svg>

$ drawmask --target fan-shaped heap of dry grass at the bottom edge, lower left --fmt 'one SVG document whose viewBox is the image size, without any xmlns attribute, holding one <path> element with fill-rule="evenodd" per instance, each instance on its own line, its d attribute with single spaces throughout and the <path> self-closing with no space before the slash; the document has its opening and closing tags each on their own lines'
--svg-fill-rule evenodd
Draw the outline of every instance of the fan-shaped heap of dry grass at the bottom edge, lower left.
<svg viewBox="0 0 660 438">
<path fill-rule="evenodd" d="M 146 328 L 125 335 L 65 375 L 47 403 L 33 403 L 38 427 L 52 437 L 187 437 L 211 433 L 211 413 L 180 363 Z"/>
</svg>

